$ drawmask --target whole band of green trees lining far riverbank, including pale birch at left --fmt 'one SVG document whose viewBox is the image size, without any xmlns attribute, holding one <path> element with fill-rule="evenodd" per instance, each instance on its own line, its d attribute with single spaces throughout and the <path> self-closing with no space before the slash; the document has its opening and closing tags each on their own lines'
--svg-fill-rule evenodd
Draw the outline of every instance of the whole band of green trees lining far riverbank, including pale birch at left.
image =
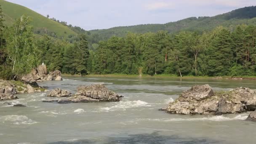
<svg viewBox="0 0 256 144">
<path fill-rule="evenodd" d="M 254 7 L 253 7 L 254 8 Z M 246 9 L 245 9 L 246 10 Z M 89 48 L 86 33 L 72 43 L 33 34 L 30 16 L 12 25 L 0 11 L 0 77 L 13 79 L 44 62 L 67 74 L 255 76 L 256 26 L 216 27 L 207 32 L 128 33 Z"/>
</svg>

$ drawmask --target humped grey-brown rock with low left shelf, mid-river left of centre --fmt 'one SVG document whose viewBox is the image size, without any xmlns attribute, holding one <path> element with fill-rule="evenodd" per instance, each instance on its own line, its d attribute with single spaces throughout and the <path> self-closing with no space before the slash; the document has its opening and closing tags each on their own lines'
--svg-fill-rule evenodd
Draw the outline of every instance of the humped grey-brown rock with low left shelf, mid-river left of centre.
<svg viewBox="0 0 256 144">
<path fill-rule="evenodd" d="M 79 86 L 77 93 L 66 99 L 45 100 L 43 102 L 65 103 L 80 103 L 80 102 L 101 102 L 101 101 L 120 101 L 123 96 L 117 95 L 113 91 L 109 91 L 105 85 L 89 85 Z"/>
</svg>

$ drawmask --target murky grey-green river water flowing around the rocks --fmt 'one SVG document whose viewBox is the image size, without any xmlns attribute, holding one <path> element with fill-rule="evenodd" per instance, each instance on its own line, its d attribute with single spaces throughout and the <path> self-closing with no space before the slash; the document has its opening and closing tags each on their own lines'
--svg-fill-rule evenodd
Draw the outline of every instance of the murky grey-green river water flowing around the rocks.
<svg viewBox="0 0 256 144">
<path fill-rule="evenodd" d="M 180 78 L 64 77 L 41 86 L 75 93 L 77 86 L 104 83 L 125 96 L 119 102 L 44 103 L 47 93 L 18 94 L 0 101 L 0 144 L 254 144 L 256 123 L 249 113 L 230 115 L 171 115 L 166 107 L 195 84 L 213 90 L 256 89 L 253 80 Z"/>
</svg>

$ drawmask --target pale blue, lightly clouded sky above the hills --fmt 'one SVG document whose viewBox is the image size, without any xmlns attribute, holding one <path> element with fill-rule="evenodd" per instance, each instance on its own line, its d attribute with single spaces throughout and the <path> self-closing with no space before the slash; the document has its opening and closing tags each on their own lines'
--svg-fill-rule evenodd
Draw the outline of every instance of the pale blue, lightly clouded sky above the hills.
<svg viewBox="0 0 256 144">
<path fill-rule="evenodd" d="M 7 0 L 85 30 L 215 16 L 256 0 Z"/>
</svg>

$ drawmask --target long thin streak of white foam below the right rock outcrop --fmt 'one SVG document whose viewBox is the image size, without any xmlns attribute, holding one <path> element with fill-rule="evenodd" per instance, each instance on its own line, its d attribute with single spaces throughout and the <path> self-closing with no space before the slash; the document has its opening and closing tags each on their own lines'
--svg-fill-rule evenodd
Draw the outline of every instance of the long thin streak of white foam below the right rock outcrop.
<svg viewBox="0 0 256 144">
<path fill-rule="evenodd" d="M 163 119 L 147 119 L 149 121 L 229 121 L 229 120 L 245 120 L 248 117 L 248 113 L 240 114 L 235 117 L 225 117 L 224 115 L 218 115 L 213 117 L 202 117 L 202 118 L 163 118 Z M 142 120 L 142 119 L 141 119 Z M 146 119 L 143 119 L 146 120 Z"/>
</svg>

